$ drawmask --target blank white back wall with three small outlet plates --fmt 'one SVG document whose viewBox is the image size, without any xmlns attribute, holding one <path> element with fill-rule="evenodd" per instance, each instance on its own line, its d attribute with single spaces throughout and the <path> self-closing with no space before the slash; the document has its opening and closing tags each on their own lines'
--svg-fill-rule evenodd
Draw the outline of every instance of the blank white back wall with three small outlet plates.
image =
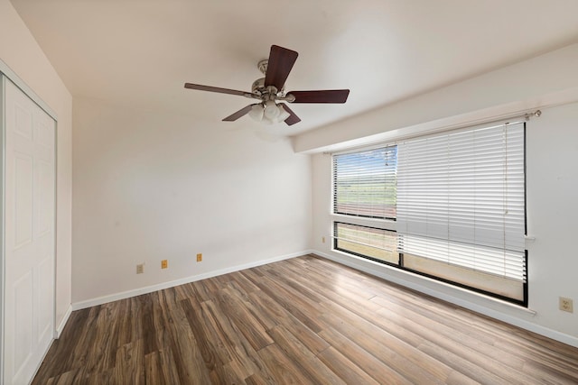
<svg viewBox="0 0 578 385">
<path fill-rule="evenodd" d="M 309 250 L 311 159 L 287 140 L 75 98 L 73 144 L 75 308 Z"/>
</svg>

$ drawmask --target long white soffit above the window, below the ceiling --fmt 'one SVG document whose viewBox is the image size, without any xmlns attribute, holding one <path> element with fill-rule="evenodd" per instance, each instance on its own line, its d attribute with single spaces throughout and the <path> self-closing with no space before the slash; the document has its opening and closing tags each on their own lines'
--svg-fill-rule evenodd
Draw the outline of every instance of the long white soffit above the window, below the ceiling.
<svg viewBox="0 0 578 385">
<path fill-rule="evenodd" d="M 303 133 L 294 149 L 333 150 L 558 105 L 578 97 L 576 68 L 578 43 Z"/>
</svg>

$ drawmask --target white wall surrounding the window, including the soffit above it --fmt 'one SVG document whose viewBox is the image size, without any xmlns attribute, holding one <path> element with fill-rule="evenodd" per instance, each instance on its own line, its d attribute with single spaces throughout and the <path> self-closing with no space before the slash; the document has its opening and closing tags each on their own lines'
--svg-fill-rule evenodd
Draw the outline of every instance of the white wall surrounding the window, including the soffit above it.
<svg viewBox="0 0 578 385">
<path fill-rule="evenodd" d="M 562 53 L 562 54 L 561 54 Z M 569 58 L 571 66 L 568 65 Z M 416 121 L 413 126 L 396 126 L 392 131 L 383 130 L 382 137 L 395 138 L 396 135 L 416 133 L 419 130 L 432 130 L 443 125 L 463 124 L 491 116 L 505 114 L 509 108 L 521 105 L 542 108 L 543 115 L 533 118 L 527 124 L 527 227 L 528 234 L 535 236 L 534 243 L 527 243 L 528 249 L 528 309 L 517 307 L 467 290 L 452 288 L 449 285 L 427 280 L 411 273 L 388 268 L 378 263 L 331 251 L 331 242 L 322 243 L 322 237 L 331 235 L 331 156 L 317 153 L 312 160 L 312 206 L 313 231 L 312 247 L 315 252 L 335 261 L 366 270 L 387 280 L 396 281 L 410 288 L 424 291 L 438 298 L 449 300 L 458 305 L 469 307 L 488 316 L 494 316 L 528 330 L 553 337 L 566 344 L 578 346 L 578 311 L 573 314 L 558 310 L 558 297 L 573 298 L 578 304 L 578 285 L 575 271 L 578 270 L 575 218 L 578 217 L 576 191 L 578 191 L 578 95 L 575 76 L 578 45 L 555 51 L 545 57 L 529 60 L 500 69 L 479 78 L 473 78 L 461 84 L 453 85 L 431 94 L 418 96 L 416 100 L 395 105 L 394 110 L 406 110 L 427 101 L 432 104 L 430 111 L 457 111 L 460 115 L 436 116 L 434 121 Z M 536 61 L 549 63 L 535 66 Z M 532 64 L 532 65 L 531 65 Z M 517 70 L 518 69 L 518 70 Z M 534 72 L 536 71 L 536 72 Z M 503 89 L 504 74 L 508 72 L 508 84 L 518 84 L 517 90 Z M 532 83 L 532 77 L 541 78 Z M 552 81 L 543 81 L 550 78 Z M 564 89 L 566 81 L 567 89 Z M 527 85 L 525 80 L 530 83 Z M 469 100 L 471 85 L 478 84 L 477 91 L 483 96 L 482 104 Z M 495 95 L 496 103 L 490 101 Z M 507 95 L 508 97 L 505 97 Z M 540 96 L 543 95 L 543 96 Z M 547 105 L 555 105 L 550 106 Z M 480 106 L 479 110 L 470 109 Z M 517 109 L 514 109 L 516 111 Z M 369 115 L 351 119 L 348 124 L 340 123 L 332 129 L 325 127 L 318 133 L 306 133 L 295 143 L 309 151 L 314 148 L 335 147 L 335 137 L 355 137 L 355 133 L 364 131 L 360 125 L 370 124 L 374 130 L 370 136 L 359 142 L 375 140 L 376 127 L 387 126 L 388 107 Z M 419 115 L 419 113 L 418 113 Z M 427 114 L 426 114 L 427 115 Z M 401 116 L 401 115 L 400 115 Z M 425 116 L 425 115 L 424 115 Z M 408 117 L 414 120 L 414 117 Z M 348 128 L 349 127 L 349 128 Z M 354 127 L 354 128 L 352 128 Z M 391 126 L 389 126 L 391 127 Z M 335 134 L 335 135 L 334 135 Z"/>
</svg>

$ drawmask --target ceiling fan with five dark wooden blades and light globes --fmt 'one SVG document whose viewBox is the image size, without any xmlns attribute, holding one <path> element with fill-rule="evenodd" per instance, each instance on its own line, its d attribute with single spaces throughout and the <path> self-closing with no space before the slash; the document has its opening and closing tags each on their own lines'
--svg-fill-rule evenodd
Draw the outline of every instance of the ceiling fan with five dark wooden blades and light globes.
<svg viewBox="0 0 578 385">
<path fill-rule="evenodd" d="M 315 91 L 290 91 L 284 89 L 285 80 L 293 69 L 298 53 L 277 45 L 271 46 L 268 60 L 261 60 L 257 64 L 265 78 L 258 78 L 253 82 L 251 92 L 235 89 L 202 86 L 200 84 L 185 83 L 185 88 L 200 91 L 218 92 L 220 94 L 245 96 L 259 102 L 247 105 L 236 113 L 228 115 L 224 122 L 233 122 L 244 115 L 249 115 L 256 121 L 266 124 L 284 122 L 292 125 L 301 122 L 299 116 L 283 102 L 287 103 L 345 103 L 350 95 L 349 89 L 328 89 Z M 281 103 L 277 103 L 281 102 Z"/>
</svg>

